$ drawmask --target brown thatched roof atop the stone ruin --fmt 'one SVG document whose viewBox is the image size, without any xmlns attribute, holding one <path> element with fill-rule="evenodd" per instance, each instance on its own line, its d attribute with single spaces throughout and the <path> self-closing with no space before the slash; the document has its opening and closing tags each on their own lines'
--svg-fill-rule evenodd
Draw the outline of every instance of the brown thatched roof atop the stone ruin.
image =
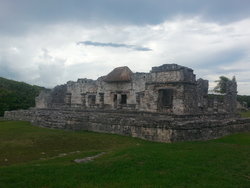
<svg viewBox="0 0 250 188">
<path fill-rule="evenodd" d="M 105 78 L 105 82 L 130 82 L 133 72 L 128 67 L 117 67 Z"/>
</svg>

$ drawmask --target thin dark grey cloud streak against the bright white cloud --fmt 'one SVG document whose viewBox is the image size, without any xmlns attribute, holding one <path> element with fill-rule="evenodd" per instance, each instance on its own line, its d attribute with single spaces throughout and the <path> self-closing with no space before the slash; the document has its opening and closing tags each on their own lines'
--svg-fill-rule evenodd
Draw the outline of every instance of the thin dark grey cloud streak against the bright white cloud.
<svg viewBox="0 0 250 188">
<path fill-rule="evenodd" d="M 119 44 L 119 43 L 103 43 L 103 42 L 93 42 L 93 41 L 82 41 L 77 42 L 77 45 L 87 45 L 87 46 L 101 46 L 101 47 L 114 47 L 114 48 L 130 48 L 136 51 L 152 51 L 150 48 L 136 46 L 136 45 L 128 45 L 128 44 Z"/>
</svg>

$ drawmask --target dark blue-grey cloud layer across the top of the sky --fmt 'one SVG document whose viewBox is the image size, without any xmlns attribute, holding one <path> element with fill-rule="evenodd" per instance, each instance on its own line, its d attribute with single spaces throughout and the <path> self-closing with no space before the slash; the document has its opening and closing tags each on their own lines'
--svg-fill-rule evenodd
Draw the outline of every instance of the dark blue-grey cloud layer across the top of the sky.
<svg viewBox="0 0 250 188">
<path fill-rule="evenodd" d="M 159 24 L 176 16 L 228 23 L 250 17 L 249 0 L 0 0 L 1 32 L 61 22 Z"/>
</svg>

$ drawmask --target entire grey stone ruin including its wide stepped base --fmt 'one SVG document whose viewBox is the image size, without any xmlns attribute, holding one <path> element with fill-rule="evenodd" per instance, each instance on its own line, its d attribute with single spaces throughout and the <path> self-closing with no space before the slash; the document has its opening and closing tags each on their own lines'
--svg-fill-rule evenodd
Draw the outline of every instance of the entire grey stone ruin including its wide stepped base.
<svg viewBox="0 0 250 188">
<path fill-rule="evenodd" d="M 116 133 L 160 142 L 207 140 L 250 130 L 236 114 L 237 84 L 209 96 L 208 81 L 177 64 L 133 73 L 118 67 L 97 80 L 78 79 L 44 90 L 36 108 L 5 113 L 44 127 Z"/>
</svg>

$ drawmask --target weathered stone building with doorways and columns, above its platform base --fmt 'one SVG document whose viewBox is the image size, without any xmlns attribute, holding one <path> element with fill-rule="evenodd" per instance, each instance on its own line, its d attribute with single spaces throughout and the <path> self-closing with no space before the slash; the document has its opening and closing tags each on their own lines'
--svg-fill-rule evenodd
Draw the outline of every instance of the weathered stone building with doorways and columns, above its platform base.
<svg viewBox="0 0 250 188">
<path fill-rule="evenodd" d="M 236 105 L 236 82 L 230 83 L 225 112 L 234 112 L 232 106 Z M 210 100 L 212 108 L 216 104 Z M 133 73 L 128 67 L 118 67 L 97 80 L 78 79 L 44 91 L 37 98 L 36 107 L 205 113 L 209 111 L 208 81 L 196 80 L 192 69 L 177 64 L 153 67 L 149 73 Z"/>
</svg>

